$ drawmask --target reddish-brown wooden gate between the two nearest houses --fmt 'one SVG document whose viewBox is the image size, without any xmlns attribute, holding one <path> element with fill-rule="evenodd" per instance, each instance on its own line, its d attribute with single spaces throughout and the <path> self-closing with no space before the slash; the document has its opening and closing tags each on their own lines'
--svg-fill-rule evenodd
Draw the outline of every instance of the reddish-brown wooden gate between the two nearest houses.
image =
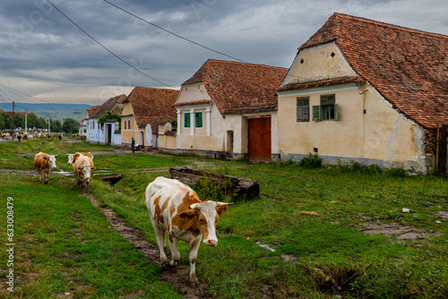
<svg viewBox="0 0 448 299">
<path fill-rule="evenodd" d="M 249 118 L 247 123 L 249 159 L 271 161 L 271 116 Z"/>
</svg>

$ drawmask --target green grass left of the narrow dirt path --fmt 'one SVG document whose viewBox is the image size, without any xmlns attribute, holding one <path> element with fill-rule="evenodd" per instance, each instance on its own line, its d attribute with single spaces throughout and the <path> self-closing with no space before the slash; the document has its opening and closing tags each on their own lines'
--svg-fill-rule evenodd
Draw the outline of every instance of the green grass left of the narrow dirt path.
<svg viewBox="0 0 448 299">
<path fill-rule="evenodd" d="M 0 182 L 2 215 L 6 198 L 13 198 L 15 243 L 14 292 L 2 288 L 0 297 L 181 297 L 159 282 L 159 267 L 118 235 L 73 182 L 62 178 L 44 185 L 22 175 L 0 175 Z M 2 240 L 5 233 L 0 231 Z M 6 261 L 4 250 L 0 259 Z M 6 281 L 5 271 L 0 278 Z"/>
</svg>

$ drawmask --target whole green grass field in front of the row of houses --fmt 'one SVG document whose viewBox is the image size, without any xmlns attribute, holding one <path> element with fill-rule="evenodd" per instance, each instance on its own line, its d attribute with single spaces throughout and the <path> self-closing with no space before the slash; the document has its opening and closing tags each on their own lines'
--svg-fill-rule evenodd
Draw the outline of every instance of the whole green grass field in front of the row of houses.
<svg viewBox="0 0 448 299">
<path fill-rule="evenodd" d="M 24 153 L 3 150 L 3 146 L 0 144 L 0 152 L 6 154 L 2 155 Z M 30 169 L 30 158 L 11 157 L 17 159 L 19 167 Z M 133 173 L 129 169 L 192 165 L 195 159 L 127 155 L 118 162 L 112 156 L 96 156 L 94 161 L 99 169 L 125 177 L 114 186 L 94 177 L 90 193 L 155 243 L 143 192 L 155 177 L 168 176 L 168 171 Z M 216 172 L 249 177 L 261 186 L 260 198 L 237 200 L 220 217 L 218 246 L 202 244 L 199 250 L 196 273 L 200 281 L 208 283 L 212 295 L 447 297 L 446 178 L 372 174 L 349 167 L 306 169 L 295 164 L 198 161 L 204 170 L 213 167 Z M 12 166 L 0 163 L 0 167 Z M 58 297 L 65 293 L 80 298 L 179 296 L 171 286 L 159 282 L 157 266 L 145 261 L 109 228 L 70 178 L 50 175 L 48 185 L 38 184 L 37 177 L 30 175 L 0 175 L 0 180 L 0 213 L 6 215 L 8 196 L 17 203 L 15 297 Z M 403 208 L 410 212 L 402 213 Z M 1 219 L 6 227 L 6 218 Z M 374 225 L 408 227 L 418 237 L 403 240 L 403 235 L 362 232 Z M 6 228 L 0 230 L 0 237 L 6 240 Z M 180 263 L 188 265 L 187 248 L 184 243 L 179 247 Z M 0 259 L 7 260 L 5 252 L 0 253 Z M 2 269 L 0 296 L 7 296 L 3 284 L 6 267 Z"/>
</svg>

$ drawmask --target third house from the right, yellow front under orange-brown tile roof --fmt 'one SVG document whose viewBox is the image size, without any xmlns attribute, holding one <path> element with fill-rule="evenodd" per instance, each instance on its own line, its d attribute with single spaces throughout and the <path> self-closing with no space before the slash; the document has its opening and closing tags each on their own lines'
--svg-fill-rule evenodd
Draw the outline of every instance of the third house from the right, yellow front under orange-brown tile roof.
<svg viewBox="0 0 448 299">
<path fill-rule="evenodd" d="M 121 114 L 121 144 L 130 147 L 134 137 L 141 149 L 157 148 L 159 124 L 177 117 L 173 104 L 178 93 L 172 89 L 134 88 Z"/>
</svg>

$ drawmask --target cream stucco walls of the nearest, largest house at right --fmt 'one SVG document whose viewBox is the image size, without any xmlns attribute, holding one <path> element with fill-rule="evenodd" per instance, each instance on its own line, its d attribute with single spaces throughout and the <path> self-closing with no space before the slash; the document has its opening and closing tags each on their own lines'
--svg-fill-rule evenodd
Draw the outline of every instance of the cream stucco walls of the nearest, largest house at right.
<svg viewBox="0 0 448 299">
<path fill-rule="evenodd" d="M 302 58 L 304 63 L 300 64 Z M 327 76 L 344 73 L 354 75 L 342 58 L 334 45 L 307 50 L 299 53 L 293 68 L 297 73 L 292 74 L 312 79 L 328 79 Z M 323 94 L 335 94 L 339 120 L 313 121 L 312 107 L 320 105 Z M 309 97 L 309 122 L 297 122 L 297 97 Z M 366 165 L 375 163 L 381 167 L 426 172 L 425 132 L 393 109 L 369 85 L 280 92 L 278 117 L 282 159 L 299 160 L 317 150 L 325 164 L 356 160 Z"/>
</svg>

